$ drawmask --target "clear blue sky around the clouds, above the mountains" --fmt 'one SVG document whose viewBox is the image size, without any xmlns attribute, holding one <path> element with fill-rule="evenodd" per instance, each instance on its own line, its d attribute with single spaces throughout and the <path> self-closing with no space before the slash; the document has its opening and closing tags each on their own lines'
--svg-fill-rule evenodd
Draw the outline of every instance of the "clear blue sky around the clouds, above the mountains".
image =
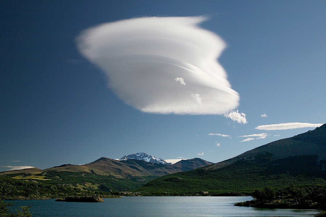
<svg viewBox="0 0 326 217">
<path fill-rule="evenodd" d="M 219 162 L 315 128 L 256 129 L 260 125 L 326 122 L 324 1 L 1 1 L 0 8 L 0 170 L 84 164 L 134 152 Z M 198 26 L 225 43 L 217 62 L 240 97 L 229 112 L 244 113 L 247 123 L 216 110 L 203 115 L 140 111 L 139 99 L 147 95 L 132 95 L 137 102 L 126 104 L 123 91 L 118 97 L 108 87 L 114 80 L 107 75 L 119 72 L 101 68 L 103 62 L 92 62 L 78 48 L 76 38 L 89 28 L 152 16 L 207 17 Z M 111 41 L 96 43 L 111 46 Z M 119 43 L 118 48 L 124 45 Z M 139 84 L 131 93 L 138 93 Z M 254 139 L 240 142 L 247 138 Z"/>
</svg>

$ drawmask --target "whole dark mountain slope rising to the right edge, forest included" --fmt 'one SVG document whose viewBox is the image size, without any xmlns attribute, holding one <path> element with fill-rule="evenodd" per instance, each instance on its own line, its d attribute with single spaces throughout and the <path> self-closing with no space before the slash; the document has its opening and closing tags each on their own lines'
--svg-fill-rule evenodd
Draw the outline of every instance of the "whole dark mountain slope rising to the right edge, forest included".
<svg viewBox="0 0 326 217">
<path fill-rule="evenodd" d="M 153 180 L 136 191 L 193 195 L 250 192 L 266 186 L 326 183 L 326 124 L 210 166 Z"/>
</svg>

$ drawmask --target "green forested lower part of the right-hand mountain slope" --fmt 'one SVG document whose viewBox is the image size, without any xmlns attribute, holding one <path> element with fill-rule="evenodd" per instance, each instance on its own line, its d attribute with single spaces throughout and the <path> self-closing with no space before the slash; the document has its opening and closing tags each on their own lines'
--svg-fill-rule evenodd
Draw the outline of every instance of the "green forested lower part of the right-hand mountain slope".
<svg viewBox="0 0 326 217">
<path fill-rule="evenodd" d="M 303 170 L 300 173 L 296 168 L 300 161 L 302 167 L 311 166 L 315 156 L 302 156 L 277 161 L 268 157 L 261 157 L 256 161 L 239 161 L 232 165 L 207 170 L 205 167 L 163 176 L 153 180 L 137 192 L 167 195 L 196 195 L 208 192 L 210 195 L 239 192 L 250 193 L 256 188 L 267 186 L 282 187 L 288 184 L 326 184 L 325 173 Z M 282 166 L 277 164 L 282 163 Z M 313 165 L 316 166 L 317 165 Z"/>
</svg>

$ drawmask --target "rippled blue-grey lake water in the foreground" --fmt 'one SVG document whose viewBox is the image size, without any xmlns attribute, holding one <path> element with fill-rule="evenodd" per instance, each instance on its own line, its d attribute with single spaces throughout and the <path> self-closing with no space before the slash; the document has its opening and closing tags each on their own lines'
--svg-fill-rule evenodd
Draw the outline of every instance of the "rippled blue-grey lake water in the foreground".
<svg viewBox="0 0 326 217">
<path fill-rule="evenodd" d="M 314 216 L 318 210 L 261 209 L 236 207 L 234 203 L 251 200 L 241 197 L 122 197 L 104 198 L 104 203 L 55 202 L 46 200 L 8 200 L 19 206 L 33 205 L 33 217 L 305 217 Z"/>
</svg>

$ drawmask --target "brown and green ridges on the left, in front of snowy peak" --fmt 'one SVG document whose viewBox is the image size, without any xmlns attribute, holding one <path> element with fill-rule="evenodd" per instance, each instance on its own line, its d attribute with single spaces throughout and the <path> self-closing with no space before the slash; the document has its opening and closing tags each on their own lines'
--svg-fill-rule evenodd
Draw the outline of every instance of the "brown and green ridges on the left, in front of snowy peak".
<svg viewBox="0 0 326 217">
<path fill-rule="evenodd" d="M 48 169 L 28 168 L 0 172 L 0 175 L 48 184 L 70 185 L 84 190 L 127 191 L 159 176 L 211 164 L 213 163 L 200 158 L 181 160 L 169 165 L 136 159 L 113 160 L 101 157 L 84 165 L 63 164 Z"/>
</svg>

